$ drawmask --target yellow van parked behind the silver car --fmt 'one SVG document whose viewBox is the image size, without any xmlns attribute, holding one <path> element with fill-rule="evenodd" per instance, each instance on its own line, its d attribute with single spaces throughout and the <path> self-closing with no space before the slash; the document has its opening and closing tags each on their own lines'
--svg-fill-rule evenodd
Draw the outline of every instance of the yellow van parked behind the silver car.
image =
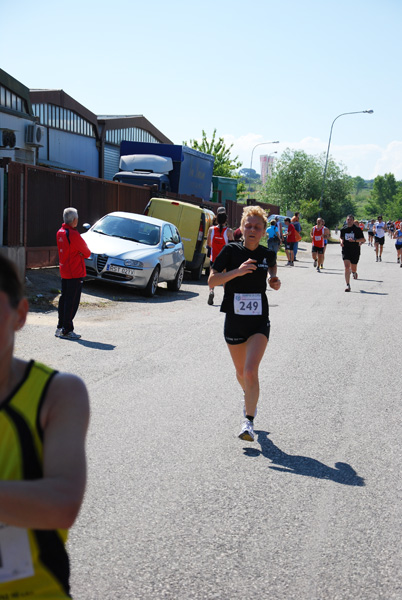
<svg viewBox="0 0 402 600">
<path fill-rule="evenodd" d="M 184 246 L 186 270 L 191 271 L 192 279 L 200 279 L 202 270 L 209 268 L 207 236 L 213 223 L 214 212 L 187 202 L 151 198 L 144 214 L 176 225 Z"/>
</svg>

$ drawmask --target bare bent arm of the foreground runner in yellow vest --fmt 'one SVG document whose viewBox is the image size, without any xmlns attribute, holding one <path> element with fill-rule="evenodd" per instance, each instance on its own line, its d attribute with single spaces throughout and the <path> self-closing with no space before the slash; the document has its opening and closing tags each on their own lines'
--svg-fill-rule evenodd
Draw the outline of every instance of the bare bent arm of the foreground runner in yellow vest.
<svg viewBox="0 0 402 600">
<path fill-rule="evenodd" d="M 88 393 L 78 377 L 56 375 L 41 412 L 43 478 L 0 481 L 0 521 L 29 529 L 68 529 L 86 482 Z"/>
</svg>

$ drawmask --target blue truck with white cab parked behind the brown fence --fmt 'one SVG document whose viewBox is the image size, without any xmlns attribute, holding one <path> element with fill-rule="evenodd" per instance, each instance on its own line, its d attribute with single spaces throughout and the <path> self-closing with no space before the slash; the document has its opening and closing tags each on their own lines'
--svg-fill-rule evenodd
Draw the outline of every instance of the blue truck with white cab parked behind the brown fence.
<svg viewBox="0 0 402 600">
<path fill-rule="evenodd" d="M 161 193 L 174 192 L 208 201 L 212 196 L 214 160 L 210 154 L 187 146 L 122 141 L 119 172 L 113 181 L 157 185 Z"/>
</svg>

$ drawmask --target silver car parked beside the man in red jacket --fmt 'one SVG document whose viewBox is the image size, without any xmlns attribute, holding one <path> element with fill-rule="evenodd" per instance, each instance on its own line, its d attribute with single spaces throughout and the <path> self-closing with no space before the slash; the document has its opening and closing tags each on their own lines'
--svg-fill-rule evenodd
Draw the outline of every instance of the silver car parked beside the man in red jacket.
<svg viewBox="0 0 402 600">
<path fill-rule="evenodd" d="M 90 227 L 86 224 L 84 227 Z M 105 215 L 82 235 L 91 256 L 87 277 L 144 290 L 153 296 L 158 283 L 178 291 L 184 276 L 184 250 L 175 225 L 135 213 Z"/>
</svg>

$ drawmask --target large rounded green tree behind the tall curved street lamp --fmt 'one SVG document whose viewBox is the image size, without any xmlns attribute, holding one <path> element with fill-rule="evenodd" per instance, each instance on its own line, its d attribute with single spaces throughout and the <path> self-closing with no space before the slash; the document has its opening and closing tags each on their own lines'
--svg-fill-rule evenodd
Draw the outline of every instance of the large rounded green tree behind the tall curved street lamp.
<svg viewBox="0 0 402 600">
<path fill-rule="evenodd" d="M 338 224 L 345 214 L 353 212 L 350 199 L 353 182 L 345 167 L 330 158 L 320 210 L 324 165 L 325 155 L 317 157 L 288 148 L 264 187 L 263 201 L 279 204 L 282 213 L 300 211 L 310 221 L 321 214 L 329 227 Z"/>
</svg>

